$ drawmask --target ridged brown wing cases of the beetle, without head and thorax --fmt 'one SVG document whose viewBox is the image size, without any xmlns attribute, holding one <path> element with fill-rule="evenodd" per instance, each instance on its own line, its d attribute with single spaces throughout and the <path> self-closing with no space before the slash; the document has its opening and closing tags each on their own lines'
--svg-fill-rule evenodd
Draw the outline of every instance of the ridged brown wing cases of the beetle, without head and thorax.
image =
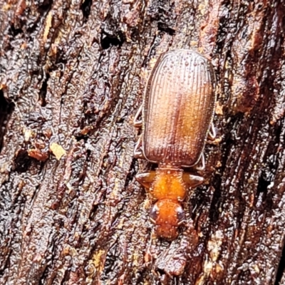
<svg viewBox="0 0 285 285">
<path fill-rule="evenodd" d="M 199 53 L 158 58 L 144 98 L 142 150 L 147 160 L 190 166 L 199 159 L 214 111 L 214 71 Z"/>
</svg>

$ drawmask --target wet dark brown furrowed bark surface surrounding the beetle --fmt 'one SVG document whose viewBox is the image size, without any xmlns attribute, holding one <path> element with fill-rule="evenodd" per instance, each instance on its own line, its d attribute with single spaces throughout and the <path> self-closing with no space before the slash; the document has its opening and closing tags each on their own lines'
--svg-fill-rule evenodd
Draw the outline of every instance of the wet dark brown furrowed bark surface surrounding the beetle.
<svg viewBox="0 0 285 285">
<path fill-rule="evenodd" d="M 0 7 L 0 284 L 285 284 L 283 0 Z M 217 139 L 166 242 L 133 116 L 173 48 L 214 65 Z"/>
</svg>

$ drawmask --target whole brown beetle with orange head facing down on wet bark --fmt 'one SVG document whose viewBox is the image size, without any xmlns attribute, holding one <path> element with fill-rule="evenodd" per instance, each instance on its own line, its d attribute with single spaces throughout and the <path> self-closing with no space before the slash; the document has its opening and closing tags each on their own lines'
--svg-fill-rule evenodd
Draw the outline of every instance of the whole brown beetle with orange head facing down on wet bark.
<svg viewBox="0 0 285 285">
<path fill-rule="evenodd" d="M 155 171 L 140 173 L 136 179 L 157 201 L 150 217 L 159 237 L 177 237 L 177 227 L 185 217 L 180 203 L 188 188 L 204 181 L 182 167 L 199 161 L 204 165 L 202 151 L 212 125 L 214 85 L 212 65 L 199 53 L 186 49 L 162 53 L 135 115 L 135 126 L 142 126 L 135 157 L 158 164 Z M 209 135 L 214 137 L 212 130 Z"/>
</svg>

